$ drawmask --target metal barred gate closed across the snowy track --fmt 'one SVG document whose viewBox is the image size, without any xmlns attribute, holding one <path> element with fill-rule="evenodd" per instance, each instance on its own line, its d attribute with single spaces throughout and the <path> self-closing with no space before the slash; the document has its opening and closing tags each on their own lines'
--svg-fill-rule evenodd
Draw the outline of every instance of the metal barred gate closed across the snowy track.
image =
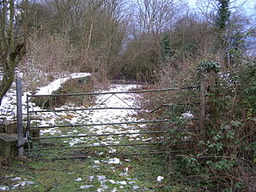
<svg viewBox="0 0 256 192">
<path fill-rule="evenodd" d="M 162 125 L 168 127 L 168 124 L 172 123 L 172 119 L 143 119 L 143 120 L 119 120 L 116 122 L 99 122 L 99 123 L 65 123 L 53 121 L 52 125 L 39 125 L 38 120 L 44 119 L 44 113 L 58 113 L 63 112 L 80 112 L 90 114 L 94 111 L 101 110 L 132 110 L 143 112 L 143 108 L 134 108 L 125 102 L 120 96 L 122 94 L 146 94 L 146 93 L 158 93 L 158 92 L 167 92 L 172 90 L 191 90 L 197 89 L 196 86 L 182 87 L 182 88 L 169 88 L 161 90 L 131 90 L 131 91 L 118 91 L 118 92 L 89 92 L 89 93 L 75 93 L 75 94 L 53 94 L 53 95 L 27 95 L 26 96 L 26 108 L 27 108 L 27 126 L 26 132 L 28 134 L 28 148 L 27 152 L 33 156 L 47 157 L 50 156 L 49 151 L 52 151 L 55 154 L 55 159 L 67 159 L 67 158 L 83 158 L 86 157 L 88 153 L 96 153 L 96 148 L 102 149 L 102 152 L 97 152 L 97 154 L 108 154 L 108 155 L 146 155 L 146 154 L 170 154 L 180 152 L 178 150 L 169 150 L 166 146 L 173 144 L 170 141 L 169 137 L 173 132 L 189 132 L 197 130 L 168 130 L 163 129 L 161 131 L 149 131 L 145 126 L 147 125 Z M 94 108 L 54 108 L 54 109 L 36 109 L 32 108 L 32 100 L 38 98 L 48 98 L 49 101 L 54 101 L 58 97 L 69 97 L 69 96 L 107 96 L 107 98 L 96 105 Z M 116 97 L 116 99 L 125 103 L 126 107 L 112 106 L 112 107 L 103 107 L 102 104 L 107 102 L 111 97 Z M 198 103 L 180 103 L 179 105 L 191 105 Z M 163 103 L 160 106 L 155 107 L 147 113 L 154 113 L 160 108 L 170 108 L 173 104 Z M 41 119 L 35 117 L 38 113 L 41 114 Z M 90 115 L 89 115 L 90 116 Z M 43 118 L 42 118 L 43 117 Z M 85 116 L 84 116 L 85 117 Z M 65 121 L 65 120 L 64 120 Z M 87 127 L 97 127 L 112 125 L 118 127 L 120 125 L 133 125 L 136 129 L 127 128 L 125 131 L 120 132 L 88 132 Z M 143 125 L 143 126 L 142 126 Z M 142 128 L 143 127 L 143 128 Z M 78 129 L 79 131 L 73 131 L 71 134 L 70 131 L 73 129 Z M 56 135 L 46 134 L 47 136 L 40 137 L 39 131 L 54 130 Z M 84 130 L 84 133 L 83 133 Z M 86 131 L 87 130 L 87 131 Z M 77 133 L 77 134 L 75 134 Z M 45 134 L 44 134 L 45 135 Z M 147 137 L 146 137 L 147 136 Z M 149 136 L 160 137 L 160 141 L 155 141 Z M 111 143 L 101 142 L 104 141 L 102 138 L 113 138 Z M 122 140 L 123 142 L 115 142 L 115 138 L 128 138 Z M 131 137 L 137 137 L 134 140 L 131 140 Z M 140 137 L 146 137 L 146 139 L 140 139 Z M 67 139 L 70 140 L 81 140 L 83 142 L 76 143 L 71 145 L 67 142 Z M 73 141 L 72 140 L 72 141 Z M 91 141 L 99 141 L 98 143 L 92 143 Z M 176 141 L 178 142 L 188 142 L 188 141 Z M 147 147 L 148 146 L 148 147 Z M 150 148 L 149 148 L 150 146 Z M 162 149 L 152 148 L 151 146 L 164 146 Z M 110 148 L 110 150 L 109 150 Z M 116 149 L 117 148 L 117 149 Z M 119 149 L 121 148 L 121 149 Z M 128 149 L 131 150 L 128 150 Z M 137 150 L 140 148 L 140 150 Z M 143 149 L 146 149 L 143 151 Z M 112 153 L 109 153 L 111 152 Z M 183 150 L 184 151 L 184 150 Z"/>
</svg>

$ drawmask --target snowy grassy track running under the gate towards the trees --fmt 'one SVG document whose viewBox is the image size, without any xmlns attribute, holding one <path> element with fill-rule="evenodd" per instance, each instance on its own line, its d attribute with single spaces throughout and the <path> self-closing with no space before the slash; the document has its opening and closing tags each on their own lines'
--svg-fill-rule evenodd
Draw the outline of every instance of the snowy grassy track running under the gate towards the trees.
<svg viewBox="0 0 256 192">
<path fill-rule="evenodd" d="M 108 91 L 127 91 L 137 88 L 137 84 L 112 84 Z M 45 89 L 46 90 L 46 89 Z M 40 94 L 44 94 L 43 92 Z M 139 102 L 137 94 L 118 94 L 117 96 L 99 95 L 96 96 L 96 104 L 90 108 L 138 108 Z M 108 99 L 108 100 L 107 100 Z M 107 101 L 106 101 L 107 100 Z M 105 101 L 105 102 L 104 102 Z M 102 103 L 103 102 L 103 103 Z M 61 108 L 71 108 L 73 106 L 63 106 Z M 83 107 L 81 107 L 83 108 Z M 38 108 L 33 108 L 34 110 Z M 57 108 L 56 108 L 57 109 Z M 61 113 L 38 113 L 43 119 L 38 125 L 75 125 L 75 124 L 104 124 L 119 123 L 124 121 L 142 120 L 137 119 L 137 111 L 125 109 L 100 109 L 93 111 L 69 111 Z M 40 145 L 79 147 L 81 145 L 99 146 L 107 144 L 138 143 L 147 141 L 149 137 L 139 134 L 145 125 L 100 125 L 100 126 L 82 126 L 67 128 L 51 128 L 40 131 L 41 137 L 51 136 L 78 136 L 84 134 L 105 134 L 105 133 L 138 133 L 131 136 L 108 136 L 108 137 L 78 137 L 78 138 L 61 138 L 55 140 L 42 140 Z M 34 143 L 37 147 L 37 143 Z M 0 186 L 0 191 L 12 190 L 18 191 L 20 188 L 27 191 L 43 191 L 50 187 L 53 191 L 158 191 L 152 189 L 159 183 L 164 182 L 162 168 L 164 166 L 157 164 L 148 164 L 145 162 L 148 158 L 125 158 L 113 157 L 113 154 L 145 152 L 145 147 L 108 147 L 108 148 L 82 148 L 68 151 L 35 151 L 31 155 L 42 158 L 54 158 L 62 154 L 67 156 L 85 155 L 84 161 L 32 161 L 32 167 L 36 167 L 29 172 L 21 171 L 18 175 L 4 177 L 20 177 L 20 181 L 26 181 L 27 177 L 32 180 L 30 183 L 17 185 L 14 181 L 13 186 Z M 142 159 L 141 159 L 142 158 Z M 144 158 L 144 159 L 143 159 Z M 158 161 L 159 156 L 152 157 Z M 163 160 L 160 158 L 160 160 Z M 150 160 L 149 160 L 150 161 Z M 30 165 L 30 163 L 27 163 Z M 63 170 L 64 171 L 58 171 Z M 37 166 L 35 166 L 37 165 Z M 40 170 L 48 170 L 41 172 Z M 24 172 L 24 175 L 21 175 Z M 43 174 L 43 175 L 42 175 Z M 44 175 L 45 174 L 45 175 Z M 59 175 L 60 176 L 59 176 Z M 65 180 L 61 185 L 53 184 L 44 186 L 41 177 L 45 177 L 49 183 L 55 180 L 55 177 Z M 20 183 L 18 183 L 20 184 Z M 38 189 L 43 190 L 38 190 Z M 25 190 L 26 191 L 26 190 Z"/>
</svg>

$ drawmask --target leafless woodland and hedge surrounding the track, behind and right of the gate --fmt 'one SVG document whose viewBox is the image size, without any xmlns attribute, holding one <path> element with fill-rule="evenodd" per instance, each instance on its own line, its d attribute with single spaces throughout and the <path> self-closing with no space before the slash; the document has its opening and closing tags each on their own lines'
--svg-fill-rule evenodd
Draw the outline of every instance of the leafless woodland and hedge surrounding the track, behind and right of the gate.
<svg viewBox="0 0 256 192">
<path fill-rule="evenodd" d="M 0 0 L 0 106 L 17 70 L 27 74 L 26 90 L 45 79 L 31 81 L 34 69 L 52 73 L 46 79 L 91 73 L 95 84 L 118 79 L 150 89 L 206 79 L 204 131 L 189 136 L 194 143 L 174 144 L 192 152 L 170 154 L 165 164 L 169 177 L 191 188 L 163 191 L 256 191 L 256 4 L 248 10 L 247 3 L 198 0 L 192 9 L 178 0 Z M 198 98 L 194 90 L 174 91 L 148 94 L 142 104 Z M 184 112 L 177 105 L 149 118 L 172 119 L 172 130 L 197 128 L 197 119 L 177 115 Z"/>
</svg>

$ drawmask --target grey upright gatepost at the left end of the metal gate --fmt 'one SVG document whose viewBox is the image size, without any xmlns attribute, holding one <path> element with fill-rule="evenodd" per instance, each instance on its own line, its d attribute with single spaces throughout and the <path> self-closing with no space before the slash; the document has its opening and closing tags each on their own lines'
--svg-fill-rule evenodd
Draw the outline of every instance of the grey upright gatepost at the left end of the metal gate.
<svg viewBox="0 0 256 192">
<path fill-rule="evenodd" d="M 24 156 L 24 148 L 23 148 L 23 125 L 22 125 L 22 85 L 21 79 L 16 79 L 16 99 L 17 99 L 17 148 L 19 157 Z"/>
</svg>

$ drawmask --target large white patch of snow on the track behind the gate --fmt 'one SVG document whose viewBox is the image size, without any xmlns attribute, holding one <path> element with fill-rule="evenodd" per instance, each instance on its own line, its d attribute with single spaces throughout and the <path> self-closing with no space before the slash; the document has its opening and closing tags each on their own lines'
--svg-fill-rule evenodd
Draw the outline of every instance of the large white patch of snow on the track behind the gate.
<svg viewBox="0 0 256 192">
<path fill-rule="evenodd" d="M 110 85 L 109 92 L 119 92 L 127 91 L 134 88 L 137 88 L 137 84 L 112 84 Z M 136 94 L 116 94 L 115 95 L 99 95 L 96 96 L 96 105 L 90 108 L 137 108 L 139 103 L 137 102 L 138 96 Z M 70 106 L 63 106 L 62 108 L 70 108 Z M 56 108 L 61 109 L 61 108 Z M 56 125 L 60 120 L 65 121 L 67 125 L 88 125 L 88 124 L 104 124 L 104 123 L 119 123 L 124 121 L 135 121 L 137 120 L 133 117 L 134 114 L 137 114 L 135 110 L 127 109 L 97 109 L 92 111 L 69 111 L 61 113 L 38 113 L 39 117 L 44 117 L 40 122 L 40 125 Z M 69 117 L 62 119 L 63 117 Z M 45 120 L 46 119 L 46 120 Z M 144 125 L 138 125 L 143 127 Z M 129 129 L 128 129 L 129 128 Z M 98 125 L 98 126 L 89 126 L 84 128 L 73 128 L 65 132 L 65 136 L 70 135 L 83 135 L 84 129 L 86 131 L 94 134 L 103 134 L 103 133 L 119 133 L 119 132 L 137 132 L 138 130 L 133 131 L 130 125 Z M 41 135 L 63 135 L 58 127 L 50 128 L 40 131 Z M 137 137 L 137 135 L 132 135 L 132 137 Z M 88 138 L 72 138 L 70 140 L 64 141 L 64 143 L 69 143 L 70 146 L 79 143 L 87 143 Z M 94 143 L 94 145 L 100 144 L 110 144 L 110 143 L 119 143 L 113 137 L 107 137 L 102 140 L 102 143 Z"/>
</svg>

